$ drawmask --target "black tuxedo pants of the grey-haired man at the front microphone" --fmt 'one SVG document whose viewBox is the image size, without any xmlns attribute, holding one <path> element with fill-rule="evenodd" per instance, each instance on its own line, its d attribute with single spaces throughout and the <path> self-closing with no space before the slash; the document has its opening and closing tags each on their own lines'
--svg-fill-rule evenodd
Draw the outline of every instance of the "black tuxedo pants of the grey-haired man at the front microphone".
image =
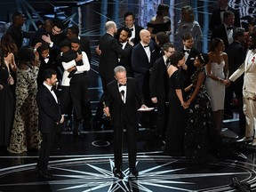
<svg viewBox="0 0 256 192">
<path fill-rule="evenodd" d="M 114 126 L 114 156 L 116 169 L 122 169 L 122 156 L 123 156 L 123 142 L 124 142 L 124 129 L 126 129 L 126 137 L 128 142 L 128 157 L 129 167 L 135 168 L 136 165 L 136 142 L 137 133 L 136 127 L 124 121 L 122 126 Z"/>
</svg>

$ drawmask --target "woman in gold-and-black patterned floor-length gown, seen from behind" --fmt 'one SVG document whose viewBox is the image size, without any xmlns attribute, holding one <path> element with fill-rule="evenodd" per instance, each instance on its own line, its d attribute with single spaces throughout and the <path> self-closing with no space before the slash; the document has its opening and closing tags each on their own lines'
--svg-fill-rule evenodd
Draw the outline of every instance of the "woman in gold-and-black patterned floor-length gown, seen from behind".
<svg viewBox="0 0 256 192">
<path fill-rule="evenodd" d="M 29 148 L 39 149 L 41 135 L 38 131 L 36 105 L 36 77 L 39 70 L 39 54 L 28 46 L 20 48 L 16 84 L 16 111 L 9 147 L 11 153 L 23 153 Z"/>
</svg>

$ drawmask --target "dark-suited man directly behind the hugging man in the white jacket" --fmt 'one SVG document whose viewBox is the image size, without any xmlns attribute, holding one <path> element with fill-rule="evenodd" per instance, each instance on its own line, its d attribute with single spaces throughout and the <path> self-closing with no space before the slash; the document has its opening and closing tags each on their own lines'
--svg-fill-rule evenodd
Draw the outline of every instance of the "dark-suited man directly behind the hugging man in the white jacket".
<svg viewBox="0 0 256 192">
<path fill-rule="evenodd" d="M 89 62 L 91 63 L 92 60 L 92 53 L 91 53 L 91 48 L 90 48 L 90 41 L 85 37 L 85 36 L 79 36 L 79 28 L 76 25 L 73 25 L 68 28 L 67 30 L 67 36 L 68 39 L 77 37 L 79 39 L 79 49 L 82 52 L 85 52 Z"/>
</svg>

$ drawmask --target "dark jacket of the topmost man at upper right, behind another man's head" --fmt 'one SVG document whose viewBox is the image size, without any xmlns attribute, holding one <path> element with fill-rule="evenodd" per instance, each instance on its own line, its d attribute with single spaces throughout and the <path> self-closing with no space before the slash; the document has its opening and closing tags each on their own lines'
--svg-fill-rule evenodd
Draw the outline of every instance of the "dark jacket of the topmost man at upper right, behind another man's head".
<svg viewBox="0 0 256 192">
<path fill-rule="evenodd" d="M 234 14 L 235 14 L 234 26 L 236 26 L 236 28 L 240 28 L 241 27 L 241 22 L 240 22 L 239 12 L 237 12 L 236 10 L 231 8 L 230 6 L 228 6 L 228 11 L 234 12 Z M 213 12 L 212 12 L 212 18 L 211 18 L 210 23 L 209 23 L 209 29 L 213 30 L 214 28 L 220 26 L 221 24 L 222 23 L 221 23 L 221 19 L 220 19 L 220 7 L 219 7 L 219 8 L 214 9 Z"/>
</svg>

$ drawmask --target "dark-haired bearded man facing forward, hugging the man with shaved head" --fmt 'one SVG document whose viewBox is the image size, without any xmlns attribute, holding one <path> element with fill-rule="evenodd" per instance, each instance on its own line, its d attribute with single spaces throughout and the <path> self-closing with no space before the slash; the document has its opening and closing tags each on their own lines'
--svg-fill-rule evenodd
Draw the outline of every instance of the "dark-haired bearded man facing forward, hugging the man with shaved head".
<svg viewBox="0 0 256 192">
<path fill-rule="evenodd" d="M 119 59 L 119 65 L 124 66 L 127 76 L 133 76 L 131 56 L 132 56 L 132 44 L 129 43 L 129 37 L 131 31 L 128 28 L 123 28 L 119 35 L 119 43 L 125 52 L 125 56 Z"/>
</svg>

